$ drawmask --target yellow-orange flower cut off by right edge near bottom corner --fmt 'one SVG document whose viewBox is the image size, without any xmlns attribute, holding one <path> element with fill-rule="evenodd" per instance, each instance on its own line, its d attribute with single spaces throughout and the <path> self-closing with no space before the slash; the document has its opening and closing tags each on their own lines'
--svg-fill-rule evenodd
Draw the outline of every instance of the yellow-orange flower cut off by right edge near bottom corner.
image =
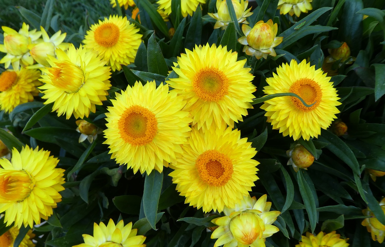
<svg viewBox="0 0 385 247">
<path fill-rule="evenodd" d="M 382 212 L 385 214 L 385 198 L 383 198 L 380 202 L 380 207 Z M 363 215 L 370 216 L 369 218 L 365 218 L 362 221 L 361 225 L 366 227 L 368 232 L 372 234 L 373 241 L 377 241 L 380 244 L 384 242 L 385 239 L 385 225 L 383 225 L 377 218 L 370 208 L 362 210 Z"/>
</svg>

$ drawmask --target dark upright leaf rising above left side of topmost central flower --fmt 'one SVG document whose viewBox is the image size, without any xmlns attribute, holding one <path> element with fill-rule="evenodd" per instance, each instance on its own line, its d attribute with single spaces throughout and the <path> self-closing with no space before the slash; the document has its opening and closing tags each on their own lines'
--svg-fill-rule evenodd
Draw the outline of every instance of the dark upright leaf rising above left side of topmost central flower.
<svg viewBox="0 0 385 247">
<path fill-rule="evenodd" d="M 192 50 L 195 45 L 201 44 L 202 39 L 202 10 L 198 4 L 194 14 L 192 15 L 189 28 L 187 29 L 186 40 L 184 42 L 184 48 Z"/>
</svg>

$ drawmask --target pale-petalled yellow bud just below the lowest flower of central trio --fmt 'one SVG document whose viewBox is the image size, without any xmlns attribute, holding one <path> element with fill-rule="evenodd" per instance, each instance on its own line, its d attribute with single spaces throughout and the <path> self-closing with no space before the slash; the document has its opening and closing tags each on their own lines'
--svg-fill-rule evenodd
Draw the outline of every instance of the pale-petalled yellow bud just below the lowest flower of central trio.
<svg viewBox="0 0 385 247">
<path fill-rule="evenodd" d="M 245 195 L 235 207 L 225 207 L 226 216 L 211 221 L 219 225 L 211 234 L 212 239 L 218 239 L 214 247 L 265 247 L 266 238 L 279 231 L 271 224 L 281 213 L 269 211 L 271 202 L 266 202 L 266 198 L 267 195 L 263 195 L 257 200 Z"/>
</svg>

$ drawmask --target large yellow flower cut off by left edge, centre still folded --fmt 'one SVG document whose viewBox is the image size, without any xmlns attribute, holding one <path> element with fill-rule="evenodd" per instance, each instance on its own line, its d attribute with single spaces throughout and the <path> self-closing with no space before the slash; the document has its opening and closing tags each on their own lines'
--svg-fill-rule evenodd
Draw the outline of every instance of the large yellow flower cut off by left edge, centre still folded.
<svg viewBox="0 0 385 247">
<path fill-rule="evenodd" d="M 49 151 L 25 146 L 20 153 L 13 148 L 12 160 L 0 160 L 0 213 L 7 226 L 32 227 L 47 220 L 52 208 L 62 200 L 63 172 L 55 168 L 59 160 Z"/>
</svg>

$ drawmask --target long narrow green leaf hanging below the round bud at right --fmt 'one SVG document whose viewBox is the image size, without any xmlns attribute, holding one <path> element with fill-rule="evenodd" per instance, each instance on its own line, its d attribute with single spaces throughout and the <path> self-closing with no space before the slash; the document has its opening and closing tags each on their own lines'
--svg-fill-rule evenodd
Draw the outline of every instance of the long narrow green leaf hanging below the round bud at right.
<svg viewBox="0 0 385 247">
<path fill-rule="evenodd" d="M 300 187 L 300 193 L 305 204 L 306 212 L 308 213 L 311 232 L 314 232 L 315 226 L 317 224 L 317 210 L 315 206 L 315 199 L 313 193 L 310 190 L 308 183 L 303 178 L 304 171 L 300 170 L 297 172 L 298 186 Z"/>
</svg>

